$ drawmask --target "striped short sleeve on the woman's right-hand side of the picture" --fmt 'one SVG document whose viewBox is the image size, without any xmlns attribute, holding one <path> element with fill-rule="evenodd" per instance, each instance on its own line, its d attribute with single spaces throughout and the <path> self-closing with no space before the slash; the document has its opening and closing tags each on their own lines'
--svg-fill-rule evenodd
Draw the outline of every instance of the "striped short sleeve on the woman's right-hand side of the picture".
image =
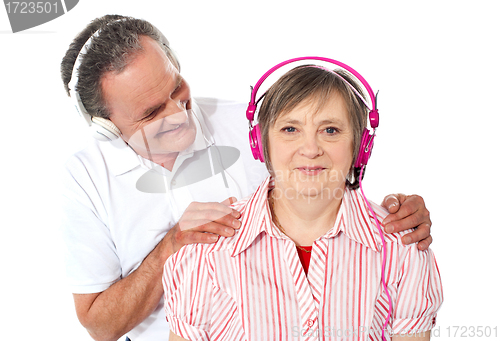
<svg viewBox="0 0 500 341">
<path fill-rule="evenodd" d="M 431 249 L 400 247 L 397 297 L 393 299 L 394 334 L 431 330 L 443 302 L 441 276 Z"/>
</svg>

